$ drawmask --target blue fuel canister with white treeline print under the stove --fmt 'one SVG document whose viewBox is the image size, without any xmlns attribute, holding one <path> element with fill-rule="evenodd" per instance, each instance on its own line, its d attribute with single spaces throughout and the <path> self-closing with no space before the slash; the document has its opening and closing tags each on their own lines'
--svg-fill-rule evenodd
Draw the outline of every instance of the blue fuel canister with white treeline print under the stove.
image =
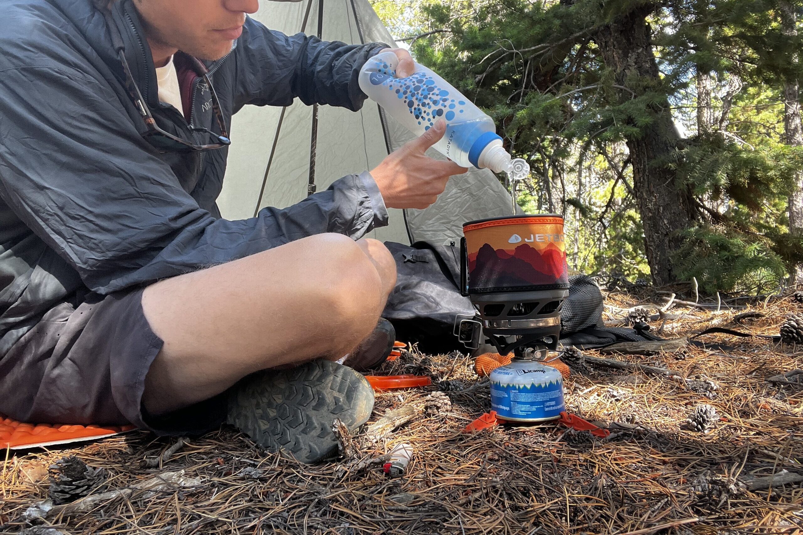
<svg viewBox="0 0 803 535">
<path fill-rule="evenodd" d="M 563 378 L 551 366 L 512 362 L 491 372 L 491 409 L 501 419 L 539 422 L 565 410 Z"/>
</svg>

